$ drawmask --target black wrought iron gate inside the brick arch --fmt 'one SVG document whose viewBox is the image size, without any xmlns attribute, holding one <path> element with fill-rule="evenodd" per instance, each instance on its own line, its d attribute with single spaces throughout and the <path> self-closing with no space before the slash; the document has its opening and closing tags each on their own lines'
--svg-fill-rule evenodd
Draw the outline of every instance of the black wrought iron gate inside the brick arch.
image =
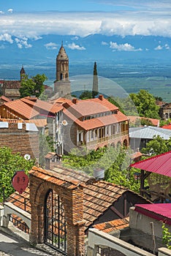
<svg viewBox="0 0 171 256">
<path fill-rule="evenodd" d="M 50 189 L 45 197 L 45 244 L 66 255 L 66 220 L 60 197 Z"/>
</svg>

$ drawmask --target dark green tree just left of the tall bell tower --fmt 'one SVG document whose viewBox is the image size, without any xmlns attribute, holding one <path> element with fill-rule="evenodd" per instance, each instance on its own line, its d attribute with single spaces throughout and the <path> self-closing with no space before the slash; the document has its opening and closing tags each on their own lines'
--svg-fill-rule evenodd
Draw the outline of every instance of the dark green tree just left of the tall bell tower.
<svg viewBox="0 0 171 256">
<path fill-rule="evenodd" d="M 34 95 L 39 97 L 45 90 L 43 83 L 47 80 L 45 74 L 35 75 L 34 77 L 28 78 L 28 75 L 23 75 L 20 85 L 20 97 L 27 97 Z"/>
</svg>

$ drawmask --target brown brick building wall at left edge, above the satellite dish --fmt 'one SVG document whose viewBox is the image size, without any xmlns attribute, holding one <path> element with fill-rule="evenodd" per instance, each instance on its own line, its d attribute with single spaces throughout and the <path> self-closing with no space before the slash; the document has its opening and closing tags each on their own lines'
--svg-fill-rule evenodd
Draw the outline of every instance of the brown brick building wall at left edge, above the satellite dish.
<svg viewBox="0 0 171 256">
<path fill-rule="evenodd" d="M 26 124 L 18 129 L 18 124 L 9 124 L 8 128 L 0 128 L 0 146 L 12 148 L 13 153 L 21 156 L 30 154 L 31 159 L 39 159 L 39 134 L 26 131 Z"/>
</svg>

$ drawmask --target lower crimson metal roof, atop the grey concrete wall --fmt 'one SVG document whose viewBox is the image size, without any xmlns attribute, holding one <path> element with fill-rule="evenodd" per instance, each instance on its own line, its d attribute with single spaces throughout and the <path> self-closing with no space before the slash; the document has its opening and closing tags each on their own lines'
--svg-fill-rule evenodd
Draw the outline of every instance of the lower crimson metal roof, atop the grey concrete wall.
<svg viewBox="0 0 171 256">
<path fill-rule="evenodd" d="M 135 211 L 171 225 L 171 203 L 136 204 Z"/>
</svg>

